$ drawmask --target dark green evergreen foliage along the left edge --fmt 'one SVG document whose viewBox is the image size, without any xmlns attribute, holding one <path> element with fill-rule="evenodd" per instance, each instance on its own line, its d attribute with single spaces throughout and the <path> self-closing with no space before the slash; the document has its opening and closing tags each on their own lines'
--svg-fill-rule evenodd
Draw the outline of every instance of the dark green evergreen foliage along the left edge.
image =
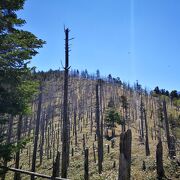
<svg viewBox="0 0 180 180">
<path fill-rule="evenodd" d="M 23 142 L 7 143 L 10 116 L 29 113 L 29 103 L 38 83 L 33 81 L 29 60 L 45 43 L 34 34 L 21 30 L 25 20 L 16 11 L 23 9 L 25 0 L 0 1 L 0 163 L 7 162 Z"/>
</svg>

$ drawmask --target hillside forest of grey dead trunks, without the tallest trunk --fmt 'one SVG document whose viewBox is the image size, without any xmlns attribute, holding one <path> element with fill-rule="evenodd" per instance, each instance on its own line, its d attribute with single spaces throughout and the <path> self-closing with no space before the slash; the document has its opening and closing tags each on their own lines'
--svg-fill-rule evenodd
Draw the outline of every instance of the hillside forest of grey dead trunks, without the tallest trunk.
<svg viewBox="0 0 180 180">
<path fill-rule="evenodd" d="M 135 159 L 139 156 L 144 157 L 138 161 L 139 173 L 148 169 L 146 173 L 152 177 L 178 179 L 179 136 L 172 122 L 179 110 L 167 97 L 148 93 L 138 83 L 130 87 L 111 78 L 83 77 L 78 71 L 70 71 L 63 154 L 64 71 L 41 72 L 36 77 L 41 82 L 39 95 L 32 102 L 32 114 L 9 120 L 8 141 L 28 142 L 8 167 L 61 177 L 65 163 L 65 176 L 70 179 L 130 179 L 138 174 L 131 169 L 137 168 L 133 166 L 137 166 Z M 106 123 L 108 108 L 120 114 L 119 123 L 111 127 Z M 136 146 L 141 152 L 133 152 Z M 164 170 L 163 157 L 169 157 L 175 169 Z M 6 174 L 10 176 L 29 178 L 17 172 Z"/>
</svg>

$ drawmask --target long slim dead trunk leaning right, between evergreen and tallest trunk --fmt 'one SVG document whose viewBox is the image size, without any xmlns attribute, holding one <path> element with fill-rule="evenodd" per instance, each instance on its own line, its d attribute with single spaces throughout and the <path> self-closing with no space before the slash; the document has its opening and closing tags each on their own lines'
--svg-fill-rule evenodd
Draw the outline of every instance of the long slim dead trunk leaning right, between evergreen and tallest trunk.
<svg viewBox="0 0 180 180">
<path fill-rule="evenodd" d="M 41 120 L 41 105 L 42 105 L 42 82 L 40 82 L 39 88 L 39 97 L 38 97 L 38 109 L 37 109 L 37 119 L 36 119 L 36 127 L 35 127 L 35 135 L 34 135 L 34 148 L 33 148 L 33 156 L 32 156 L 32 166 L 31 171 L 35 172 L 36 170 L 36 156 L 37 156 L 37 148 L 38 148 L 38 140 L 39 140 L 39 126 Z M 31 176 L 31 180 L 34 180 L 34 175 Z"/>
</svg>

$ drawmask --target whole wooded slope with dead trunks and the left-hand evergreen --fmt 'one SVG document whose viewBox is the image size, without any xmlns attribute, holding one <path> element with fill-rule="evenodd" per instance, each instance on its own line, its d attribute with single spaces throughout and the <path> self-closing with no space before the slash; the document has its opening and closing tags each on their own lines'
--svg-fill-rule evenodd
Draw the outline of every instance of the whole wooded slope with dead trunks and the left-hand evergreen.
<svg viewBox="0 0 180 180">
<path fill-rule="evenodd" d="M 0 1 L 0 178 L 179 179 L 180 94 L 72 70 L 68 28 L 63 69 L 33 71 L 23 5 Z"/>
</svg>

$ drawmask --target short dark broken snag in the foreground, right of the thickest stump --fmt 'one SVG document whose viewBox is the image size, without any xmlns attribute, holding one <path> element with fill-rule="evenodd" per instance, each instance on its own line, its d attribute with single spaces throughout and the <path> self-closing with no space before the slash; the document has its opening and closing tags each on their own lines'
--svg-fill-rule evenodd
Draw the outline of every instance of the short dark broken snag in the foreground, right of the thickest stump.
<svg viewBox="0 0 180 180">
<path fill-rule="evenodd" d="M 163 168 L 163 146 L 161 140 L 159 140 L 156 149 L 156 169 L 157 169 L 157 178 L 159 180 L 163 179 L 165 175 Z"/>
</svg>

